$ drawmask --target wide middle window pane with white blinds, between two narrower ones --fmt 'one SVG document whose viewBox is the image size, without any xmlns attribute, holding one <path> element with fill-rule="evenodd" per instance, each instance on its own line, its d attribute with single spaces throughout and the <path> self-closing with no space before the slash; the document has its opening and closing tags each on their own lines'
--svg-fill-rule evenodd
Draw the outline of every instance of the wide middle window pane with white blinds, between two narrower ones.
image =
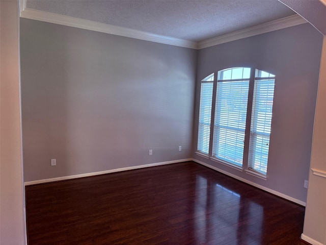
<svg viewBox="0 0 326 245">
<path fill-rule="evenodd" d="M 218 72 L 212 157 L 242 166 L 250 68 Z"/>
</svg>

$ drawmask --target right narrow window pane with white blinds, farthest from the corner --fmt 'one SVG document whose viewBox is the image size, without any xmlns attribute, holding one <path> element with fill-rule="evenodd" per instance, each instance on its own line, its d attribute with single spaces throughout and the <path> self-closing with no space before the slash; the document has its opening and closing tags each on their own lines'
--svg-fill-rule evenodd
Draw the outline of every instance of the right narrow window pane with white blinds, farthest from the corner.
<svg viewBox="0 0 326 245">
<path fill-rule="evenodd" d="M 249 168 L 267 173 L 275 76 L 256 70 L 250 127 Z"/>
</svg>

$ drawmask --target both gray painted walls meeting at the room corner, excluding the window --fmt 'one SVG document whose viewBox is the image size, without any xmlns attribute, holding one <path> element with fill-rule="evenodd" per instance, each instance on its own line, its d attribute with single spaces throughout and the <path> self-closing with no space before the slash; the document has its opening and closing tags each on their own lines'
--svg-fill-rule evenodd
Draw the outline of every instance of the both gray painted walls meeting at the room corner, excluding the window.
<svg viewBox="0 0 326 245">
<path fill-rule="evenodd" d="M 23 18 L 20 35 L 25 181 L 194 157 L 306 201 L 322 44 L 309 24 L 198 52 Z M 277 76 L 266 181 L 194 154 L 200 80 L 234 66 Z"/>
</svg>

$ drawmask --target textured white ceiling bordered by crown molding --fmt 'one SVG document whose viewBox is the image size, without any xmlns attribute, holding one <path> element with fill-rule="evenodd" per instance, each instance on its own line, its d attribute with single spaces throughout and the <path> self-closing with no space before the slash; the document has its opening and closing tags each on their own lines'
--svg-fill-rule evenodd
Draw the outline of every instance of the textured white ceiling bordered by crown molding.
<svg viewBox="0 0 326 245">
<path fill-rule="evenodd" d="M 295 14 L 277 0 L 27 0 L 26 8 L 189 41 L 202 41 Z"/>
</svg>

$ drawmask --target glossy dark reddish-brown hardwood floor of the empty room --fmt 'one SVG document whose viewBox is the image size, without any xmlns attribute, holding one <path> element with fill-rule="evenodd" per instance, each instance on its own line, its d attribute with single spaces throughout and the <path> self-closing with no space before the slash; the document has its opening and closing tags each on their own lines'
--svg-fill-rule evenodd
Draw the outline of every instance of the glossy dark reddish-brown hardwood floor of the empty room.
<svg viewBox="0 0 326 245">
<path fill-rule="evenodd" d="M 306 244 L 305 209 L 194 162 L 26 186 L 28 244 Z"/>
</svg>

